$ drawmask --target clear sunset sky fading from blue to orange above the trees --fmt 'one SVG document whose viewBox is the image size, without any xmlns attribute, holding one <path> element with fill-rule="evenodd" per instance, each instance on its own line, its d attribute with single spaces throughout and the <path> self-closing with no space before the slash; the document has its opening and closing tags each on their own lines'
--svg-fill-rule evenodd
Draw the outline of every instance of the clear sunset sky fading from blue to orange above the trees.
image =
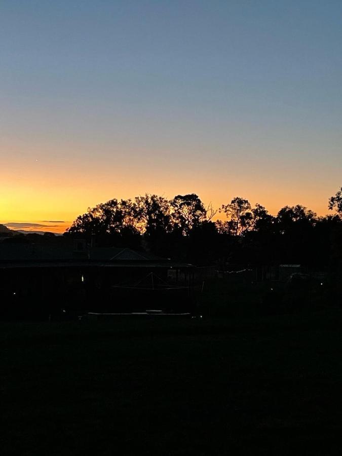
<svg viewBox="0 0 342 456">
<path fill-rule="evenodd" d="M 341 22 L 333 0 L 2 0 L 0 223 L 144 193 L 326 214 Z"/>
</svg>

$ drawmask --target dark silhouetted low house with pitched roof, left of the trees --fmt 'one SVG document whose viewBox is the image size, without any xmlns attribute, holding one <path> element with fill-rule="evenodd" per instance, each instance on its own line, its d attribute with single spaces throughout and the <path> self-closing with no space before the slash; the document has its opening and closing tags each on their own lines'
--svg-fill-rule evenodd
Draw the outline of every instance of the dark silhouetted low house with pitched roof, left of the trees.
<svg viewBox="0 0 342 456">
<path fill-rule="evenodd" d="M 83 249 L 85 245 L 0 246 L 3 316 L 128 313 L 156 306 L 168 312 L 193 310 L 191 264 L 130 249 Z"/>
</svg>

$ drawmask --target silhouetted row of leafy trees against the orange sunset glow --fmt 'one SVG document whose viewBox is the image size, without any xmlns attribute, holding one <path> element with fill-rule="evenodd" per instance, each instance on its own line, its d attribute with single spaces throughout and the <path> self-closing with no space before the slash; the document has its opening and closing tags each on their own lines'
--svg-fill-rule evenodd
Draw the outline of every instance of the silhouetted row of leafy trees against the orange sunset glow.
<svg viewBox="0 0 342 456">
<path fill-rule="evenodd" d="M 324 217 L 301 205 L 276 216 L 236 197 L 215 210 L 196 194 L 168 200 L 145 194 L 112 199 L 77 217 L 65 233 L 99 246 L 125 246 L 197 264 L 331 264 L 342 239 L 342 188 L 329 199 Z M 213 221 L 215 214 L 221 218 Z"/>
</svg>

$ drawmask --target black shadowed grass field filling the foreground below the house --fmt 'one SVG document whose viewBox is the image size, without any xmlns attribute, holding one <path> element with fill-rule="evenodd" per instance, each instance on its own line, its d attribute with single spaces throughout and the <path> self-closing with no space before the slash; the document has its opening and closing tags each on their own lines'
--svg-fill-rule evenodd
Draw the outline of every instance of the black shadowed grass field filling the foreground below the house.
<svg viewBox="0 0 342 456">
<path fill-rule="evenodd" d="M 4 455 L 341 452 L 338 311 L 0 328 Z"/>
</svg>

